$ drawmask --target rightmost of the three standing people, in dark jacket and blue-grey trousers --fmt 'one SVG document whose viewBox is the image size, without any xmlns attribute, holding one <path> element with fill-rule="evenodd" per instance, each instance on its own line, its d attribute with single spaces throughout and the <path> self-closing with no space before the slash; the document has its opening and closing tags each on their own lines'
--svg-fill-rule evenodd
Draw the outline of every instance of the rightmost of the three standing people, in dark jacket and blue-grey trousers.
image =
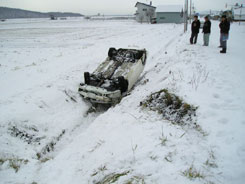
<svg viewBox="0 0 245 184">
<path fill-rule="evenodd" d="M 226 53 L 227 40 L 229 38 L 229 31 L 230 31 L 230 22 L 227 20 L 225 15 L 223 15 L 221 18 L 219 28 L 220 28 L 220 47 L 222 48 L 220 53 Z"/>
</svg>

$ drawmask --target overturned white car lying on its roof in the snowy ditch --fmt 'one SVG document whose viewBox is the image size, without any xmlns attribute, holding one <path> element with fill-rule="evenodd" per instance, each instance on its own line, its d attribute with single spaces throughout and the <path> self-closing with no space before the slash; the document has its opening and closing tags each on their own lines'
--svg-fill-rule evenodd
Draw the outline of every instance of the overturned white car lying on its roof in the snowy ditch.
<svg viewBox="0 0 245 184">
<path fill-rule="evenodd" d="M 79 93 L 95 104 L 115 104 L 132 89 L 144 70 L 146 50 L 110 48 L 93 72 L 84 73 Z"/>
</svg>

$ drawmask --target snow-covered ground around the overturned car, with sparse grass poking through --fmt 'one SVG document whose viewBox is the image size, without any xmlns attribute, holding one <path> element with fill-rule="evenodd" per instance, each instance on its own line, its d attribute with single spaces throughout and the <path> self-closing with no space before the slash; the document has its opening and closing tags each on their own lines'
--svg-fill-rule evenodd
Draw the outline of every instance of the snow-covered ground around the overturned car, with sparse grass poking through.
<svg viewBox="0 0 245 184">
<path fill-rule="evenodd" d="M 219 53 L 183 25 L 68 19 L 0 23 L 0 183 L 243 184 L 245 24 Z M 146 48 L 143 78 L 107 111 L 77 93 L 109 47 Z M 198 106 L 198 128 L 143 109 L 161 89 Z"/>
</svg>

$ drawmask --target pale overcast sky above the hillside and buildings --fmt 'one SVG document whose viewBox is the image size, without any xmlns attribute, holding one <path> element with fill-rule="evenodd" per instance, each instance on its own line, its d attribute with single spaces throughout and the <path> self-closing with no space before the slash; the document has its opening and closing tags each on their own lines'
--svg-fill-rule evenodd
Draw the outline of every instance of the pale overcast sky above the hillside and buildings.
<svg viewBox="0 0 245 184">
<path fill-rule="evenodd" d="M 185 0 L 152 0 L 153 5 L 184 4 Z M 189 0 L 190 1 L 190 0 Z M 0 6 L 21 8 L 33 11 L 66 11 L 85 15 L 97 13 L 106 15 L 133 14 L 135 12 L 135 0 L 0 0 Z M 142 3 L 150 3 L 150 0 L 139 0 Z M 225 4 L 244 4 L 245 0 L 192 0 L 197 11 L 222 10 Z"/>
</svg>

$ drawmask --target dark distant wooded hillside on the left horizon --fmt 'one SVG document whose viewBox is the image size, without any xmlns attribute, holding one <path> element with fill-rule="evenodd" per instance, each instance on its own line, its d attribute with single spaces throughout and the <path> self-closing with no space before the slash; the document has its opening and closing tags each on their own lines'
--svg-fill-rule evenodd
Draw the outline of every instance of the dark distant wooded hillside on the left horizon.
<svg viewBox="0 0 245 184">
<path fill-rule="evenodd" d="M 50 15 L 55 17 L 81 17 L 79 13 L 70 12 L 48 12 L 41 13 L 15 8 L 0 7 L 0 19 L 15 19 L 15 18 L 48 18 Z"/>
</svg>

